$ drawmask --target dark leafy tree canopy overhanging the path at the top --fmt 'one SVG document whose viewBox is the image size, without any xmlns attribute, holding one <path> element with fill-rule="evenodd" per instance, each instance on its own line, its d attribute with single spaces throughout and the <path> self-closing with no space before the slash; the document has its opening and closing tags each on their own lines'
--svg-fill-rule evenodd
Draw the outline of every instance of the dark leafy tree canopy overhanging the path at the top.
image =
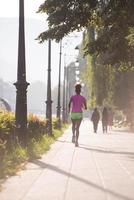
<svg viewBox="0 0 134 200">
<path fill-rule="evenodd" d="M 109 64 L 134 63 L 133 0 L 46 0 L 38 12 L 48 15 L 49 29 L 38 36 L 59 41 L 75 30 L 93 26 L 96 38 L 87 44 L 86 52 L 107 52 Z"/>
</svg>

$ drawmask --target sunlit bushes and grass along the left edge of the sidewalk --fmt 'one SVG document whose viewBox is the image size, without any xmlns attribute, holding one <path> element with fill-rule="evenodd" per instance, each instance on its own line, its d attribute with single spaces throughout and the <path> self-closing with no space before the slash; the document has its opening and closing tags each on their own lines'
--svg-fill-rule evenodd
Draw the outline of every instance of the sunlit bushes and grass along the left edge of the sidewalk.
<svg viewBox="0 0 134 200">
<path fill-rule="evenodd" d="M 14 115 L 6 112 L 1 113 L 0 125 L 2 124 L 1 132 L 3 135 L 0 134 L 0 178 L 15 174 L 19 169 L 24 167 L 28 160 L 40 158 L 43 153 L 48 151 L 50 145 L 63 133 L 63 129 L 55 129 L 56 123 L 57 120 L 54 119 L 53 136 L 50 137 L 44 134 L 46 120 L 30 114 L 28 116 L 28 143 L 24 147 L 19 143 L 15 143 L 15 141 L 10 142 L 10 137 L 3 137 L 4 134 L 7 134 L 7 131 L 10 136 L 10 130 L 14 127 Z"/>
</svg>

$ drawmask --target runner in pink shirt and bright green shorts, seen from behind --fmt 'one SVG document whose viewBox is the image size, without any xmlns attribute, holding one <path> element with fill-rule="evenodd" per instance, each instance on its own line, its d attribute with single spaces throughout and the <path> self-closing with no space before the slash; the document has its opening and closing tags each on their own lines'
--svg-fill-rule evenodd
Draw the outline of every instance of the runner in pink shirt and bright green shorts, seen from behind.
<svg viewBox="0 0 134 200">
<path fill-rule="evenodd" d="M 83 118 L 83 109 L 87 109 L 86 99 L 81 93 L 81 84 L 75 85 L 75 95 L 70 97 L 69 113 L 71 111 L 72 142 L 78 146 L 79 127 Z"/>
</svg>

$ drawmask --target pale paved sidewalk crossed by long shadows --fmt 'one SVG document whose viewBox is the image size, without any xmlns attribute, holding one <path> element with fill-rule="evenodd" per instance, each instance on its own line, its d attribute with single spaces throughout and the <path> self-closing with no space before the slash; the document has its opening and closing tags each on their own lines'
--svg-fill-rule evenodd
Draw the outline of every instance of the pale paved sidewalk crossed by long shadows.
<svg viewBox="0 0 134 200">
<path fill-rule="evenodd" d="M 79 147 L 71 127 L 42 159 L 3 184 L 0 200 L 134 200 L 134 134 L 97 134 L 84 120 Z"/>
</svg>

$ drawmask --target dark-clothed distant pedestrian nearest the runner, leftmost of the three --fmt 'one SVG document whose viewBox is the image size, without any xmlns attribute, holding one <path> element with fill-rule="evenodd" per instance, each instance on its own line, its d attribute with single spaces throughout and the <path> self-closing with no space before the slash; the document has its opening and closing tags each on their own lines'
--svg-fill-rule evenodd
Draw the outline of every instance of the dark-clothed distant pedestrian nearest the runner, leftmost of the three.
<svg viewBox="0 0 134 200">
<path fill-rule="evenodd" d="M 97 110 L 97 108 L 95 108 L 92 113 L 92 116 L 91 116 L 91 121 L 93 122 L 94 133 L 97 133 L 99 120 L 100 120 L 100 114 L 99 114 L 99 111 Z"/>
</svg>

